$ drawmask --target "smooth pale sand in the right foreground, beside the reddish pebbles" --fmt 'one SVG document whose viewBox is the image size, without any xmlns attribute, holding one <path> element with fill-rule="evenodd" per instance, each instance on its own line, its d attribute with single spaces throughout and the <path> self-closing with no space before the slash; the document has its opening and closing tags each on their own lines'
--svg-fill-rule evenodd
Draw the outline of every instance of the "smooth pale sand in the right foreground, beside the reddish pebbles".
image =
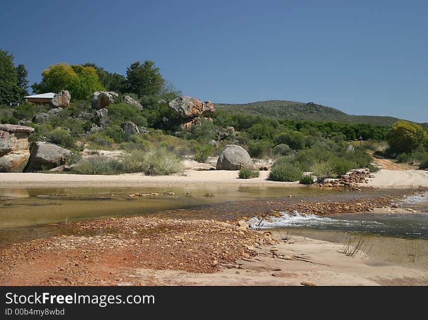
<svg viewBox="0 0 428 320">
<path fill-rule="evenodd" d="M 278 255 L 301 260 L 273 258 L 271 246 L 256 249 L 258 256 L 239 260 L 240 268 L 223 267 L 211 274 L 173 270 L 136 270 L 158 285 L 427 285 L 428 272 L 389 265 L 377 258 L 348 257 L 342 245 L 297 237 L 294 244 L 277 244 Z"/>
</svg>

